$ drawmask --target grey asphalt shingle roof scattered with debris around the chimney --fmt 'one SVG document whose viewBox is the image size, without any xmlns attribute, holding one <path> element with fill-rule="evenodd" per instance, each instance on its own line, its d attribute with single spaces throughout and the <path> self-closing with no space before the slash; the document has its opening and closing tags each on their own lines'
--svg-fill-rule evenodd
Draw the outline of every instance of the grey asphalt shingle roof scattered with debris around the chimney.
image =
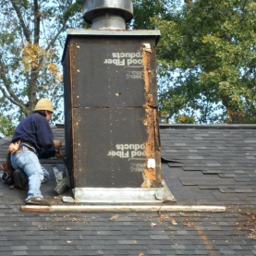
<svg viewBox="0 0 256 256">
<path fill-rule="evenodd" d="M 64 128 L 53 128 L 64 141 Z M 256 255 L 256 126 L 162 126 L 162 169 L 174 205 L 225 213 L 26 213 L 26 191 L 0 182 L 0 255 Z M 0 140 L 0 160 L 10 139 Z M 53 166 L 43 195 L 55 193 Z M 67 191 L 66 194 L 70 194 Z"/>
</svg>

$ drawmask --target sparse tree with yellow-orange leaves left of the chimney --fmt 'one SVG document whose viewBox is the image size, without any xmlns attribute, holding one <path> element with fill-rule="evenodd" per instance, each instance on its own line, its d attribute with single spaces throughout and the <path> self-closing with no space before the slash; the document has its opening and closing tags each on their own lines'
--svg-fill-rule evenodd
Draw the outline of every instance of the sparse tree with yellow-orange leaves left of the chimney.
<svg viewBox="0 0 256 256">
<path fill-rule="evenodd" d="M 49 97 L 60 116 L 61 51 L 68 27 L 84 26 L 77 0 L 2 0 L 0 14 L 0 133 L 9 135 L 37 101 Z"/>
</svg>

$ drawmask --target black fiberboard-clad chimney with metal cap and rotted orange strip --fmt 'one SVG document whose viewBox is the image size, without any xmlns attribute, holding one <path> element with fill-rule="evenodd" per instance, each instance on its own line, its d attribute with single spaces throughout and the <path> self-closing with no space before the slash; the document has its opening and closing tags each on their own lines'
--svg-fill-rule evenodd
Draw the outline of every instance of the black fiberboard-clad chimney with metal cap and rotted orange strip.
<svg viewBox="0 0 256 256">
<path fill-rule="evenodd" d="M 67 170 L 76 202 L 173 201 L 161 170 L 159 30 L 126 30 L 131 0 L 86 0 L 91 30 L 67 30 Z"/>
</svg>

